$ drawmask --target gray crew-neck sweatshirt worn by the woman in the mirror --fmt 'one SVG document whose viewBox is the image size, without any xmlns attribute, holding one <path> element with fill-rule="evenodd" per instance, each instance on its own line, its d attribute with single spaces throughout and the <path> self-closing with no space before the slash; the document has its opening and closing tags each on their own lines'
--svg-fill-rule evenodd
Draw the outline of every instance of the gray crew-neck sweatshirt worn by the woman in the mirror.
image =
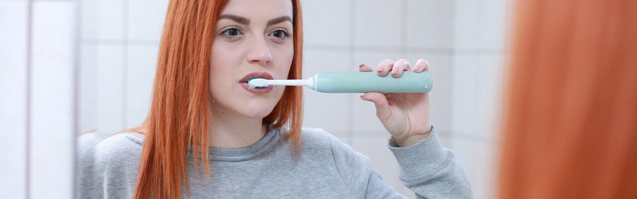
<svg viewBox="0 0 637 199">
<path fill-rule="evenodd" d="M 191 198 L 404 198 L 369 168 L 367 156 L 323 129 L 303 128 L 296 159 L 282 137 L 282 131 L 270 124 L 254 145 L 210 148 L 208 184 L 196 181 L 190 155 Z M 132 198 L 143 139 L 140 133 L 104 140 L 94 133 L 80 136 L 78 198 Z M 442 147 L 435 128 L 418 144 L 397 147 L 390 137 L 387 146 L 398 161 L 401 182 L 417 198 L 473 198 L 462 165 Z"/>
</svg>

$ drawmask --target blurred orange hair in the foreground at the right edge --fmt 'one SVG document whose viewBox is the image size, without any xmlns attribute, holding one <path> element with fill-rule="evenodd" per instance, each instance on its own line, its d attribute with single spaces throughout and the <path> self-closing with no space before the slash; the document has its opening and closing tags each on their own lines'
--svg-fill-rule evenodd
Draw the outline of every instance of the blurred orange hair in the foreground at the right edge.
<svg viewBox="0 0 637 199">
<path fill-rule="evenodd" d="M 499 198 L 637 198 L 637 1 L 516 6 Z"/>
</svg>

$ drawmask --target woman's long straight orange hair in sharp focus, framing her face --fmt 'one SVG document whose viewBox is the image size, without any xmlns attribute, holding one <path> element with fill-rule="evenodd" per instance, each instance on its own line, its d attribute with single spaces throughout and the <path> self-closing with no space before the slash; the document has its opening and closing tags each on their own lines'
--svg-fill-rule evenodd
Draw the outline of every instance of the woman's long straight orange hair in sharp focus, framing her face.
<svg viewBox="0 0 637 199">
<path fill-rule="evenodd" d="M 138 181 L 134 198 L 182 198 L 182 182 L 190 197 L 187 153 L 192 149 L 194 173 L 199 159 L 206 182 L 210 179 L 208 129 L 212 115 L 208 78 L 217 18 L 227 0 L 171 0 L 159 45 L 157 72 L 148 115 L 136 128 L 143 133 Z M 303 28 L 301 5 L 292 0 L 294 57 L 287 78 L 301 79 Z M 303 90 L 285 87 L 282 98 L 264 124 L 283 128 L 293 156 L 301 147 Z M 120 132 L 120 133 L 122 133 Z M 199 175 L 196 175 L 199 181 Z"/>
</svg>

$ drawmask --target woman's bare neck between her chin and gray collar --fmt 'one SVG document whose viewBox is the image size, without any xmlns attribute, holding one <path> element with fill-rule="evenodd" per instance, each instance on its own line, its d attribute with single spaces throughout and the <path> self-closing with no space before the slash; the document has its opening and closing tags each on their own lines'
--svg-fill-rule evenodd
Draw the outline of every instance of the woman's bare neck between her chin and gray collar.
<svg viewBox="0 0 637 199">
<path fill-rule="evenodd" d="M 233 115 L 226 110 L 213 108 L 214 124 L 208 131 L 210 147 L 238 149 L 253 145 L 268 132 L 262 118 L 247 118 Z"/>
</svg>

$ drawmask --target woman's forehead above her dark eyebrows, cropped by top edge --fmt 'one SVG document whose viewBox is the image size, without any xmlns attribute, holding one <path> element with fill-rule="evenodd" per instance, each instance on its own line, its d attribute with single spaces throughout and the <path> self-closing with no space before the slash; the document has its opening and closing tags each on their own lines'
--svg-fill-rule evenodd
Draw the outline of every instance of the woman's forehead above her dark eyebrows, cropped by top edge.
<svg viewBox="0 0 637 199">
<path fill-rule="evenodd" d="M 250 19 L 252 23 L 265 24 L 268 20 L 287 15 L 292 18 L 290 0 L 230 0 L 222 15 L 238 15 Z"/>
</svg>

